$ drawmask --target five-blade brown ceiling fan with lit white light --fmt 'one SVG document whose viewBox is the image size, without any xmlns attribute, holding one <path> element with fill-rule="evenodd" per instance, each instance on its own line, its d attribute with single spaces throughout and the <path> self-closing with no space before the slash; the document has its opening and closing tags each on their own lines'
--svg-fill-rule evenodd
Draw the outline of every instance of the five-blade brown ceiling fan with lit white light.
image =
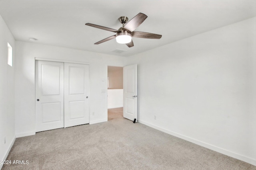
<svg viewBox="0 0 256 170">
<path fill-rule="evenodd" d="M 108 27 L 103 27 L 100 25 L 95 25 L 92 23 L 86 23 L 85 25 L 116 33 L 116 35 L 112 35 L 108 38 L 102 39 L 101 41 L 98 41 L 97 43 L 94 43 L 94 44 L 104 43 L 106 41 L 116 38 L 116 41 L 118 43 L 126 44 L 128 47 L 133 47 L 134 44 L 132 41 L 132 37 L 149 38 L 149 39 L 160 39 L 162 37 L 162 35 L 159 35 L 159 34 L 134 31 L 138 26 L 140 26 L 140 24 L 144 20 L 146 20 L 147 17 L 148 16 L 146 16 L 145 14 L 139 13 L 134 18 L 132 18 L 132 20 L 130 20 L 129 22 L 127 22 L 128 21 L 127 17 L 125 16 L 119 17 L 119 21 L 120 23 L 123 24 L 123 26 L 120 27 L 118 30 L 108 28 Z"/>
</svg>

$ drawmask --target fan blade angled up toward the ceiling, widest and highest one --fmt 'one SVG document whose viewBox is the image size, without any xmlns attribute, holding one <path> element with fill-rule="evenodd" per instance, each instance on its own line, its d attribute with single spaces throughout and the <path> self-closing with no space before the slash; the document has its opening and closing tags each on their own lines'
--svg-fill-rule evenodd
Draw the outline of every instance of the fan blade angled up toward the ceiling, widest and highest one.
<svg viewBox="0 0 256 170">
<path fill-rule="evenodd" d="M 126 25 L 124 25 L 124 30 L 126 31 L 134 31 L 138 26 L 140 26 L 140 24 L 146 20 L 148 16 L 146 16 L 145 14 L 139 13 L 138 15 L 136 15 L 134 18 L 132 18 L 132 20 L 128 21 L 128 23 L 126 23 Z"/>
</svg>

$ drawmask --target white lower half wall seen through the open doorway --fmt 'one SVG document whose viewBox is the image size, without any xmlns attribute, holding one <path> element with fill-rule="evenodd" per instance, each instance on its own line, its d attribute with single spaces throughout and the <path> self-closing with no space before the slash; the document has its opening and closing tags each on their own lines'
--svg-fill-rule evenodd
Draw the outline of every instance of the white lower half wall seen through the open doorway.
<svg viewBox="0 0 256 170">
<path fill-rule="evenodd" d="M 108 89 L 108 109 L 124 106 L 124 90 Z"/>
</svg>

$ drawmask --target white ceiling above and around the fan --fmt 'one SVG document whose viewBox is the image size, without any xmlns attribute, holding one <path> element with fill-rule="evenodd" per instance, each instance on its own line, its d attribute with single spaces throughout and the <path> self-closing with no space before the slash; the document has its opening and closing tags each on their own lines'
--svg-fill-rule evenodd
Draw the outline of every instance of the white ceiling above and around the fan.
<svg viewBox="0 0 256 170">
<path fill-rule="evenodd" d="M 148 18 L 136 31 L 161 34 L 161 39 L 133 38 L 134 47 L 94 43 L 115 33 L 120 16 Z M 14 38 L 118 56 L 130 56 L 256 16 L 256 0 L 0 0 L 0 15 Z M 111 52 L 116 49 L 122 53 Z"/>
</svg>

